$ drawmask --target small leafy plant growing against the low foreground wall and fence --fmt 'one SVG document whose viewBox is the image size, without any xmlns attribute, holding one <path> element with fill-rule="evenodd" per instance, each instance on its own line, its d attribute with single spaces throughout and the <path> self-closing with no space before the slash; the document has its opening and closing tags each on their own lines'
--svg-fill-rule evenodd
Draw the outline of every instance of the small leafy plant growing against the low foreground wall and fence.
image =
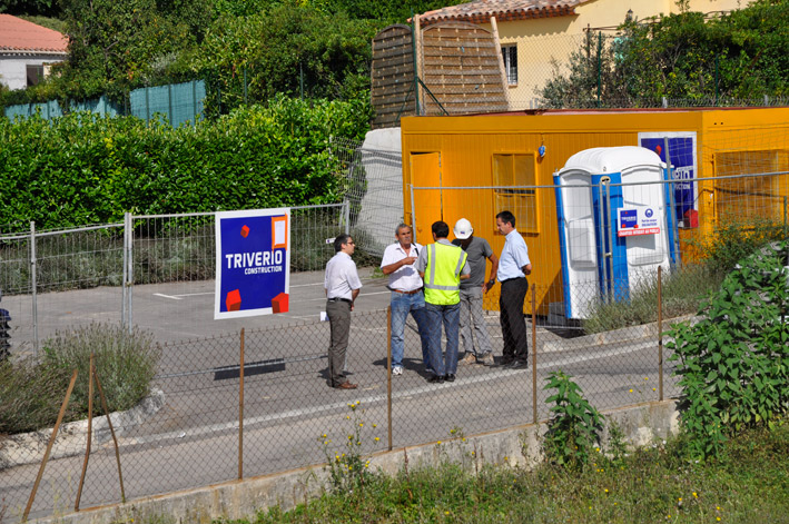
<svg viewBox="0 0 789 524">
<path fill-rule="evenodd" d="M 546 458 L 560 466 L 580 467 L 589 462 L 594 447 L 600 445 L 603 416 L 583 397 L 583 392 L 571 375 L 553 372 L 543 389 L 556 393 L 545 399 L 553 417 L 543 437 Z"/>
</svg>

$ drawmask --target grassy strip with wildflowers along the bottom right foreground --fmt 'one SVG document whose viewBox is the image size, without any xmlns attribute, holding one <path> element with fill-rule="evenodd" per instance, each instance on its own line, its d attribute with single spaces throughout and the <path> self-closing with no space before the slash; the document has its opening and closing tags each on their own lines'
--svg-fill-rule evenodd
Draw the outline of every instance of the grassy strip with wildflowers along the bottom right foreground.
<svg viewBox="0 0 789 524">
<path fill-rule="evenodd" d="M 789 522 L 789 424 L 743 433 L 716 461 L 683 457 L 683 442 L 673 439 L 619 458 L 598 453 L 575 473 L 546 464 L 533 472 L 481 466 L 475 474 L 444 464 L 376 474 L 293 511 L 233 522 Z"/>
</svg>

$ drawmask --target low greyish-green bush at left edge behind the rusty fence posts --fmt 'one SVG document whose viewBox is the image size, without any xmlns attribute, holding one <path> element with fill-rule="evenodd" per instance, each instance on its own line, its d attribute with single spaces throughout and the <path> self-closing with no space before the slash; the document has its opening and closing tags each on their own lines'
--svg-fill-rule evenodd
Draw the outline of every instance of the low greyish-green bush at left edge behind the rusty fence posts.
<svg viewBox="0 0 789 524">
<path fill-rule="evenodd" d="M 75 368 L 79 375 L 63 422 L 85 418 L 91 353 L 110 412 L 128 409 L 148 395 L 159 362 L 152 335 L 120 326 L 81 327 L 58 334 L 43 347 L 41 362 L 0 363 L 0 434 L 53 426 Z M 98 397 L 93 408 L 95 415 L 101 413 Z"/>
</svg>

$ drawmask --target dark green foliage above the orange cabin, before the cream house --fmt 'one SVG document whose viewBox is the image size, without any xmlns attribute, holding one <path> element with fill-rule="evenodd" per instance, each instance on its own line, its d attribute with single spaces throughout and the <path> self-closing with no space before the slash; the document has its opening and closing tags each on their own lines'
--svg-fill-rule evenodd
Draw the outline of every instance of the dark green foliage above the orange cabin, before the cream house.
<svg viewBox="0 0 789 524">
<path fill-rule="evenodd" d="M 682 10 L 627 22 L 602 48 L 573 53 L 566 75 L 556 69 L 541 91 L 544 103 L 596 103 L 598 79 L 602 106 L 782 96 L 789 92 L 789 0 L 757 0 L 712 20 Z"/>
</svg>

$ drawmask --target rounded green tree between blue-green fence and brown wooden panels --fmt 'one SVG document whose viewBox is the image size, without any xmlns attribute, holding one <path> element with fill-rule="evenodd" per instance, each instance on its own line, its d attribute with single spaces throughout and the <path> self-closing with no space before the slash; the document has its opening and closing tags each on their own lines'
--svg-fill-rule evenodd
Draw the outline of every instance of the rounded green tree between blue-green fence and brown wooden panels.
<svg viewBox="0 0 789 524">
<path fill-rule="evenodd" d="M 277 92 L 348 99 L 369 87 L 375 24 L 287 3 L 249 17 L 221 17 L 206 34 L 193 69 L 223 93 L 223 103 L 265 101 Z M 224 108 L 227 109 L 227 108 Z"/>
</svg>

